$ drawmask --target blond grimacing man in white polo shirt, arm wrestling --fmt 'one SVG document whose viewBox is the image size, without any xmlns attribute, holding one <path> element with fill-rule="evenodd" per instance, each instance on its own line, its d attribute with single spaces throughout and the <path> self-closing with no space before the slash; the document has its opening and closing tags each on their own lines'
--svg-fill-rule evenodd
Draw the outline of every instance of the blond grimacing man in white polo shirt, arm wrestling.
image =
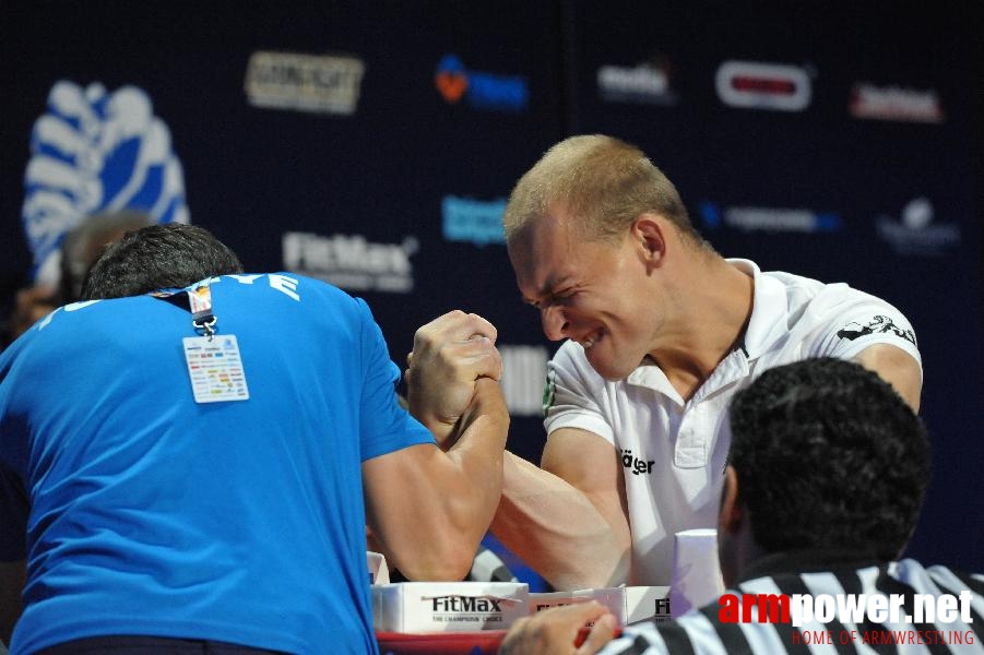
<svg viewBox="0 0 984 655">
<path fill-rule="evenodd" d="M 560 142 L 520 179 L 503 223 L 523 298 L 567 341 L 548 369 L 541 467 L 507 453 L 493 532 L 557 588 L 669 583 L 674 533 L 715 526 L 725 407 L 768 368 L 855 359 L 918 408 L 901 312 L 723 259 L 632 145 Z"/>
</svg>

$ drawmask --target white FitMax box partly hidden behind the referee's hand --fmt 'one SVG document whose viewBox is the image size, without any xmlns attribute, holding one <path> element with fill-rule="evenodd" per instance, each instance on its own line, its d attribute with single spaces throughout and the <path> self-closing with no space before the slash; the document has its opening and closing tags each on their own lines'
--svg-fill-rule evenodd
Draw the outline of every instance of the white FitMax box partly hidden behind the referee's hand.
<svg viewBox="0 0 984 655">
<path fill-rule="evenodd" d="M 530 614 L 589 600 L 597 600 L 607 607 L 621 626 L 669 619 L 668 586 L 604 587 L 530 594 Z"/>
</svg>

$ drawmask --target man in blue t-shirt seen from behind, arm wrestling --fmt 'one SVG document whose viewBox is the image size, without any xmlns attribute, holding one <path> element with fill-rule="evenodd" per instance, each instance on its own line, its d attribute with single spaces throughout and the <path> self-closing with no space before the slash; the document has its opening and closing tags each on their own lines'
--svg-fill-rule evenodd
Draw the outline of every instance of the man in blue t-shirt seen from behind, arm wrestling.
<svg viewBox="0 0 984 655">
<path fill-rule="evenodd" d="M 126 235 L 83 297 L 0 355 L 13 654 L 375 652 L 367 525 L 412 579 L 467 572 L 509 420 L 486 321 L 422 327 L 465 357 L 410 381 L 417 420 L 365 302 L 200 227 Z"/>
</svg>

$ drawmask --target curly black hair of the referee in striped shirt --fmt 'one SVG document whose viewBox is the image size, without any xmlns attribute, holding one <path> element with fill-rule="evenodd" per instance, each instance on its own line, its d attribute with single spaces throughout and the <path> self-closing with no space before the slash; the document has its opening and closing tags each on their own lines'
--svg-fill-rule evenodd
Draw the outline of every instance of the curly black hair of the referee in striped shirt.
<svg viewBox="0 0 984 655">
<path fill-rule="evenodd" d="M 735 395 L 731 426 L 738 501 L 762 548 L 900 555 L 929 481 L 929 440 L 876 373 L 832 358 L 770 369 Z"/>
</svg>

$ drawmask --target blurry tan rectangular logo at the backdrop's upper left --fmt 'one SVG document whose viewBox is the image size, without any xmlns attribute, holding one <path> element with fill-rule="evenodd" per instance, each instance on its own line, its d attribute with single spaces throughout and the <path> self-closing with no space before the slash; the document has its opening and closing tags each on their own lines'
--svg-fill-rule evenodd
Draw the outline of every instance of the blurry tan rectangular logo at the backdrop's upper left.
<svg viewBox="0 0 984 655">
<path fill-rule="evenodd" d="M 355 114 L 366 64 L 347 56 L 253 52 L 246 97 L 254 107 L 313 114 Z"/>
</svg>

